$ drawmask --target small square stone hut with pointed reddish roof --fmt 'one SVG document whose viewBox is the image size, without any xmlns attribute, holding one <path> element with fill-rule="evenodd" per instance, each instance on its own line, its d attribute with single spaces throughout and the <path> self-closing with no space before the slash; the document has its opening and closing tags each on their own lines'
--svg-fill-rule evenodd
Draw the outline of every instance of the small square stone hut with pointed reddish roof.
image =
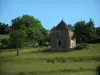
<svg viewBox="0 0 100 75">
<path fill-rule="evenodd" d="M 68 51 L 76 47 L 76 40 L 72 39 L 73 30 L 62 20 L 51 29 L 51 50 Z"/>
</svg>

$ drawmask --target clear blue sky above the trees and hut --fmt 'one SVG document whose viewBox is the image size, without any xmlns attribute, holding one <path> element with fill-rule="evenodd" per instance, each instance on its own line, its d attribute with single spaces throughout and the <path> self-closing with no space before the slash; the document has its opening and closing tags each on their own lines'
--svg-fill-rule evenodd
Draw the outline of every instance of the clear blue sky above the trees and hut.
<svg viewBox="0 0 100 75">
<path fill-rule="evenodd" d="M 93 19 L 100 26 L 100 0 L 0 0 L 0 22 L 11 25 L 11 20 L 28 14 L 38 18 L 46 29 L 62 19 L 67 24 Z"/>
</svg>

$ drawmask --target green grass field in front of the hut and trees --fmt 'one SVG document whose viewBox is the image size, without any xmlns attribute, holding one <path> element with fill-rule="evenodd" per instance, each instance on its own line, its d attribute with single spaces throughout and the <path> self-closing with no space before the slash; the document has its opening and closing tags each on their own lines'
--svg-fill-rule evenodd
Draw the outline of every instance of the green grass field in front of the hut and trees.
<svg viewBox="0 0 100 75">
<path fill-rule="evenodd" d="M 0 52 L 0 75 L 96 75 L 100 65 L 100 44 L 73 52 L 39 52 L 42 48 L 27 48 Z"/>
</svg>

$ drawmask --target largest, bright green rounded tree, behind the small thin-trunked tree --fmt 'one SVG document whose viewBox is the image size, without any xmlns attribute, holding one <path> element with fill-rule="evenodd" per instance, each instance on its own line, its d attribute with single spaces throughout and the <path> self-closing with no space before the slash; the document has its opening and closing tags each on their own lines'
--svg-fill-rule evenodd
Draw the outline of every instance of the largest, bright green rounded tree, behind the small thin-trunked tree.
<svg viewBox="0 0 100 75">
<path fill-rule="evenodd" d="M 22 25 L 26 27 L 28 44 L 31 42 L 31 45 L 35 46 L 35 43 L 39 43 L 39 45 L 44 43 L 47 31 L 38 19 L 30 15 L 23 15 L 12 19 L 12 30 L 19 30 Z"/>
</svg>

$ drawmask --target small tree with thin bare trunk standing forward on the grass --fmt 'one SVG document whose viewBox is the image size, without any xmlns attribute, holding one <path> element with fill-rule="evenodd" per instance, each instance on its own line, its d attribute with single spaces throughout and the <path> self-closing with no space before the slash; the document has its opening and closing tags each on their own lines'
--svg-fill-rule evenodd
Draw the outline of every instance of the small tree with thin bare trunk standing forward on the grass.
<svg viewBox="0 0 100 75">
<path fill-rule="evenodd" d="M 17 49 L 17 56 L 19 55 L 19 48 L 23 47 L 25 43 L 26 34 L 22 30 L 12 31 L 10 33 L 10 46 Z"/>
</svg>

